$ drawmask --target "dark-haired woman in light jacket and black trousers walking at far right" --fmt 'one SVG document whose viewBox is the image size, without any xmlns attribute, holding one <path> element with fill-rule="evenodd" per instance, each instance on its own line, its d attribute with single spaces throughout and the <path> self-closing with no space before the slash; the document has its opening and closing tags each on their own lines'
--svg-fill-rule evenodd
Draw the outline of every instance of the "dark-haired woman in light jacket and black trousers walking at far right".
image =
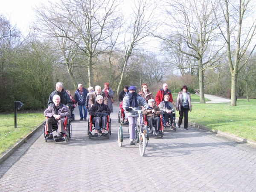
<svg viewBox="0 0 256 192">
<path fill-rule="evenodd" d="M 184 116 L 184 129 L 188 129 L 189 111 L 191 112 L 192 110 L 191 96 L 187 90 L 188 87 L 186 85 L 181 87 L 181 92 L 178 93 L 176 102 L 176 110 L 180 113 L 178 127 L 182 124 Z"/>
</svg>

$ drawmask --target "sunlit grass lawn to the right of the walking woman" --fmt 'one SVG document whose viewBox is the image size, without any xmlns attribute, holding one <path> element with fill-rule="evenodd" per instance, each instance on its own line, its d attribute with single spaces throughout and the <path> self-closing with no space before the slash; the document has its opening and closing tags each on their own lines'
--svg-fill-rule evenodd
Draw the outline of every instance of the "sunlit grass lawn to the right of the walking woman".
<svg viewBox="0 0 256 192">
<path fill-rule="evenodd" d="M 256 141 L 256 99 L 237 99 L 229 103 L 192 104 L 189 121 L 229 134 Z"/>
</svg>

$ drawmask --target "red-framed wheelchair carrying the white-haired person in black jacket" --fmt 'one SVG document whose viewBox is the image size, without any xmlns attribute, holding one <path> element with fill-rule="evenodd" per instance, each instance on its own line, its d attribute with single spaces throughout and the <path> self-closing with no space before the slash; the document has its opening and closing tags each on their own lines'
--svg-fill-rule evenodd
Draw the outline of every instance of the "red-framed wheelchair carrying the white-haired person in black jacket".
<svg viewBox="0 0 256 192">
<path fill-rule="evenodd" d="M 111 136 L 111 118 L 110 115 L 108 115 L 108 121 L 107 121 L 107 125 L 105 128 L 105 134 L 107 134 L 108 139 Z M 94 134 L 92 134 L 92 131 L 95 130 L 95 122 L 92 121 L 93 117 L 92 115 L 90 115 L 89 119 L 88 119 L 88 129 L 87 129 L 87 135 L 89 136 L 89 139 L 91 137 L 95 137 Z M 107 131 L 107 133 L 106 133 Z M 99 125 L 99 132 L 98 133 L 102 133 L 102 125 Z"/>
</svg>

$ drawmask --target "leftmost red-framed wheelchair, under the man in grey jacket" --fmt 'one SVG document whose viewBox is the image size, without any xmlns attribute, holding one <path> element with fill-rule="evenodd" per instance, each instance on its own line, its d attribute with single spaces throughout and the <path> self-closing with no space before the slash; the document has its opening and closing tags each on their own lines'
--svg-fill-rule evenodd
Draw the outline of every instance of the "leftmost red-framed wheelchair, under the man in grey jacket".
<svg viewBox="0 0 256 192">
<path fill-rule="evenodd" d="M 47 117 L 48 118 L 48 117 Z M 71 135 L 72 135 L 72 124 L 71 124 L 71 120 L 70 118 L 68 118 L 66 116 L 65 121 L 64 121 L 64 137 L 62 137 L 62 139 L 59 139 L 57 137 L 58 135 L 58 125 L 52 125 L 52 132 L 56 131 L 55 136 L 53 137 L 53 139 L 47 139 L 48 133 L 47 133 L 47 125 L 46 125 L 46 121 L 44 122 L 44 140 L 45 142 L 48 141 L 55 141 L 55 142 L 60 142 L 60 141 L 66 141 L 69 142 L 71 139 Z"/>
</svg>

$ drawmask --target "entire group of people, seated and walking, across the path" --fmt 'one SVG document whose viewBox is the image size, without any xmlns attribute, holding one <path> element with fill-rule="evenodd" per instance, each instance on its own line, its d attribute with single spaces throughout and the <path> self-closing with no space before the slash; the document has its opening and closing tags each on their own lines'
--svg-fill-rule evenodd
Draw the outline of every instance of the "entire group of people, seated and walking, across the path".
<svg viewBox="0 0 256 192">
<path fill-rule="evenodd" d="M 135 110 L 145 108 L 143 114 L 146 115 L 146 120 L 150 126 L 150 133 L 153 134 L 153 127 L 155 127 L 156 134 L 160 131 L 160 114 L 164 113 L 166 127 L 174 127 L 173 112 L 175 110 L 172 105 L 172 91 L 168 89 L 168 84 L 164 83 L 163 87 L 158 90 L 156 97 L 148 90 L 147 84 L 142 84 L 142 90 L 137 93 L 135 86 L 125 86 L 124 90 L 119 94 L 120 107 L 125 110 L 125 122 L 129 124 L 130 144 L 133 145 L 135 140 L 135 118 L 137 113 Z M 178 93 L 176 110 L 179 111 L 180 117 L 178 127 L 182 124 L 184 117 L 184 128 L 188 128 L 188 112 L 191 111 L 191 97 L 187 92 L 188 88 L 184 85 L 181 92 Z M 58 138 L 64 135 L 64 118 L 72 115 L 73 109 L 79 107 L 80 120 L 87 120 L 87 109 L 92 115 L 92 120 L 95 122 L 95 135 L 98 136 L 99 126 L 102 125 L 102 135 L 106 136 L 105 128 L 107 123 L 107 116 L 113 112 L 113 90 L 109 83 L 104 84 L 102 90 L 99 85 L 95 87 L 84 88 L 82 84 L 78 84 L 78 89 L 74 97 L 71 96 L 69 90 L 64 89 L 61 82 L 56 84 L 54 90 L 49 96 L 48 108 L 44 111 L 47 116 L 46 125 L 48 139 L 52 139 L 52 124 L 58 125 Z M 84 113 L 83 113 L 84 111 Z M 169 125 L 171 119 L 171 125 Z"/>
</svg>

